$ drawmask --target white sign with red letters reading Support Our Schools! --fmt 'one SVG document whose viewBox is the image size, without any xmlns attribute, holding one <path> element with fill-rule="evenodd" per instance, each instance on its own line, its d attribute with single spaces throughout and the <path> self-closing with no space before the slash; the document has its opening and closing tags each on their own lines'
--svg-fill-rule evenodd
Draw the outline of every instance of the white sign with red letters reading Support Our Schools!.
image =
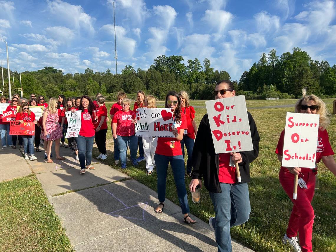
<svg viewBox="0 0 336 252">
<path fill-rule="evenodd" d="M 287 113 L 282 166 L 314 168 L 320 115 Z"/>
</svg>

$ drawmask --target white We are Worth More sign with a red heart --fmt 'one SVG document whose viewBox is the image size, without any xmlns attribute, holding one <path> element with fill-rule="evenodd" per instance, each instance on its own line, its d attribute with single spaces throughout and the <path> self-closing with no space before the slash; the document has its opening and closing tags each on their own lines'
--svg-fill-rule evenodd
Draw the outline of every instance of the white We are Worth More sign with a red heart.
<svg viewBox="0 0 336 252">
<path fill-rule="evenodd" d="M 136 136 L 174 137 L 172 109 L 137 109 L 136 119 Z"/>
</svg>

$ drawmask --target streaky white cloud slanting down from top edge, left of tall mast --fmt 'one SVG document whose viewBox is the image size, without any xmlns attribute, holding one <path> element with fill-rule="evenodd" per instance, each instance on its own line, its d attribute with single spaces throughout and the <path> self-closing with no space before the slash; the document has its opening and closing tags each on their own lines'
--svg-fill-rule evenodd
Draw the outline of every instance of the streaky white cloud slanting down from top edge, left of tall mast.
<svg viewBox="0 0 336 252">
<path fill-rule="evenodd" d="M 80 5 L 72 5 L 60 0 L 48 1 L 49 11 L 60 20 L 67 22 L 76 30 L 94 33 L 93 22 L 95 18 L 86 14 Z"/>
</svg>

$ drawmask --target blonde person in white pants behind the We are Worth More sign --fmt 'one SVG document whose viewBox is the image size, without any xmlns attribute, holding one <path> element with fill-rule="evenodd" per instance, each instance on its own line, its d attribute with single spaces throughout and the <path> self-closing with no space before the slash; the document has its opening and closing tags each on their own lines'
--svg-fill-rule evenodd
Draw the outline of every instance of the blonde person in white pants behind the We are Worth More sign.
<svg viewBox="0 0 336 252">
<path fill-rule="evenodd" d="M 147 95 L 145 98 L 145 107 L 148 109 L 156 109 L 156 101 L 157 98 L 153 95 Z M 157 137 L 142 136 L 143 154 L 146 160 L 147 175 L 151 175 L 155 167 L 154 155 L 157 144 Z"/>
</svg>

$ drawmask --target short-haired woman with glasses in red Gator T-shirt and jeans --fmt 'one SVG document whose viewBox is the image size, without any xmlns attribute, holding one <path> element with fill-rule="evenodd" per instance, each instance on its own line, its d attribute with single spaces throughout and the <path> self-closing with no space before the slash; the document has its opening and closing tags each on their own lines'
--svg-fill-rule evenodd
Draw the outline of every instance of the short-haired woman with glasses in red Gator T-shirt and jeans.
<svg viewBox="0 0 336 252">
<path fill-rule="evenodd" d="M 130 100 L 122 99 L 122 110 L 116 112 L 112 119 L 112 133 L 113 138 L 118 142 L 119 157 L 121 162 L 121 169 L 126 169 L 126 152 L 127 147 L 131 153 L 131 161 L 134 166 L 138 163 L 136 159 L 136 151 L 138 149 L 138 139 L 135 136 L 134 119 L 135 113 L 129 109 Z"/>
</svg>

